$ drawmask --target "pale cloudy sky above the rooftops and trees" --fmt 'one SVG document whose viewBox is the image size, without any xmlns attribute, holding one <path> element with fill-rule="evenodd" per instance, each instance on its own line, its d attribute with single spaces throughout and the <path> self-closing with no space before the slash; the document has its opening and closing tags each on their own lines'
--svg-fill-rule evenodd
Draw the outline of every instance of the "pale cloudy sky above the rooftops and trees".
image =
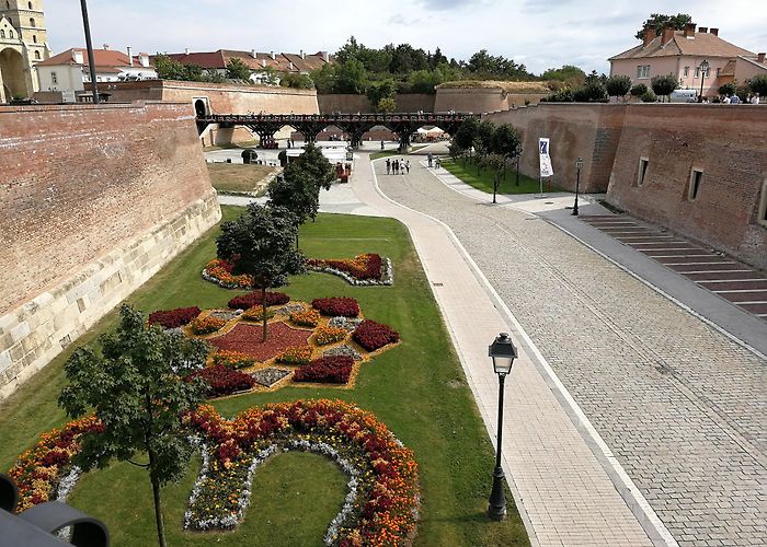
<svg viewBox="0 0 767 547">
<path fill-rule="evenodd" d="M 45 0 L 50 47 L 83 47 L 75 0 Z M 673 8 L 672 8 L 673 7 Z M 763 0 L 88 0 L 94 47 L 134 51 L 335 51 L 348 36 L 370 47 L 410 43 L 449 58 L 485 48 L 539 73 L 576 65 L 607 72 L 652 12 L 689 13 L 752 51 L 767 50 Z"/>
</svg>

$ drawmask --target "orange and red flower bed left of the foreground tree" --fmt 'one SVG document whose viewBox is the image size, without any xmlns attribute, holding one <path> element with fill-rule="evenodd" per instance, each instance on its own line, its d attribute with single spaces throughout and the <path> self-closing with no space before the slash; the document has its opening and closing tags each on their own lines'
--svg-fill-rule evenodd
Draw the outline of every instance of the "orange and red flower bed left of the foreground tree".
<svg viewBox="0 0 767 547">
<path fill-rule="evenodd" d="M 80 450 L 80 437 L 91 431 L 101 431 L 95 417 L 71 421 L 60 430 L 43 434 L 36 446 L 19 456 L 9 472 L 19 487 L 18 512 L 57 499 L 59 482 L 71 469 L 72 456 Z"/>
</svg>

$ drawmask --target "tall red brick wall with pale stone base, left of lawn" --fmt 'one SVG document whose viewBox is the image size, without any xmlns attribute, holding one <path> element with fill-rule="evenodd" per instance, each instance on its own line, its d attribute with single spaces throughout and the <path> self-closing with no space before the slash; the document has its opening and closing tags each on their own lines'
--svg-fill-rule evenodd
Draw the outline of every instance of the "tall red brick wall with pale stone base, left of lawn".
<svg viewBox="0 0 767 547">
<path fill-rule="evenodd" d="M 0 107 L 0 398 L 219 219 L 191 105 Z"/>
</svg>

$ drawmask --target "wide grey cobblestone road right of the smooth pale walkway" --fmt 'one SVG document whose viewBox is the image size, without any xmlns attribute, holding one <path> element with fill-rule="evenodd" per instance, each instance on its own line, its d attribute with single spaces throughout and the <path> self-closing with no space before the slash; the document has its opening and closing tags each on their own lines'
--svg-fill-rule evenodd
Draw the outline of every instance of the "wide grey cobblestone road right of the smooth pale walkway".
<svg viewBox="0 0 767 547">
<path fill-rule="evenodd" d="M 453 229 L 679 545 L 767 545 L 767 361 L 417 160 L 381 190 Z"/>
</svg>

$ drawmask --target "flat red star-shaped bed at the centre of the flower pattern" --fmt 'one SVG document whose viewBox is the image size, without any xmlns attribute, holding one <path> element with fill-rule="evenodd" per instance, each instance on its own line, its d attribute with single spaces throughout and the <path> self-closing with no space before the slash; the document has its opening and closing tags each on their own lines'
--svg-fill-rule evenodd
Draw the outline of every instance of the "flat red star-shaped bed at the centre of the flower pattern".
<svg viewBox="0 0 767 547">
<path fill-rule="evenodd" d="M 310 330 L 291 328 L 285 323 L 267 325 L 266 341 L 262 340 L 260 325 L 239 324 L 227 334 L 208 338 L 207 341 L 222 350 L 239 351 L 255 358 L 256 361 L 268 361 L 291 346 L 306 346 Z"/>
</svg>

